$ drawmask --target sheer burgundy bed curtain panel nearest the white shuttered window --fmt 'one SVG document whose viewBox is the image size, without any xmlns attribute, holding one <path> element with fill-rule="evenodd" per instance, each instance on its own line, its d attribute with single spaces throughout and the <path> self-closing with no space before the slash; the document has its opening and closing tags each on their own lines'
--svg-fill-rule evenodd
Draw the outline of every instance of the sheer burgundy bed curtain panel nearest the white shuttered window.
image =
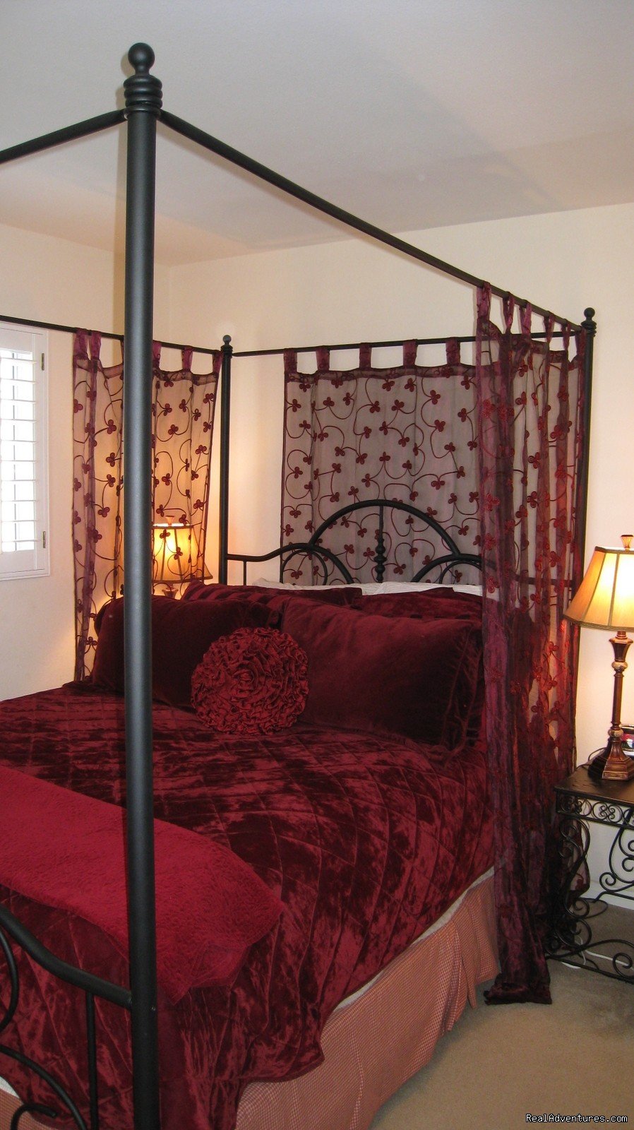
<svg viewBox="0 0 634 1130">
<path fill-rule="evenodd" d="M 101 350 L 101 334 L 75 336 L 76 679 L 92 669 L 96 611 L 123 585 L 123 358 L 104 365 Z M 188 529 L 191 549 L 183 571 L 201 576 L 222 355 L 214 355 L 212 372 L 205 374 L 192 372 L 192 350 L 184 348 L 182 367 L 163 370 L 160 345 L 154 344 L 153 511 L 155 521 Z"/>
</svg>

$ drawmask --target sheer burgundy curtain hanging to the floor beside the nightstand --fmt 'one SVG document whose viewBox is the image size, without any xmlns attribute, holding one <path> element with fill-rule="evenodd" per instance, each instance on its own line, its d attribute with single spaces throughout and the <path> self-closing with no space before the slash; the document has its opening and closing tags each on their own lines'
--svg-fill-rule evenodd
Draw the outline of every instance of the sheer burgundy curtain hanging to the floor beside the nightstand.
<svg viewBox="0 0 634 1130">
<path fill-rule="evenodd" d="M 582 572 L 585 336 L 568 356 L 530 338 L 531 310 L 490 320 L 478 292 L 477 409 L 487 741 L 495 810 L 502 972 L 490 1002 L 549 1001 L 544 957 L 554 785 L 574 767 L 576 629 L 562 618 Z"/>
</svg>

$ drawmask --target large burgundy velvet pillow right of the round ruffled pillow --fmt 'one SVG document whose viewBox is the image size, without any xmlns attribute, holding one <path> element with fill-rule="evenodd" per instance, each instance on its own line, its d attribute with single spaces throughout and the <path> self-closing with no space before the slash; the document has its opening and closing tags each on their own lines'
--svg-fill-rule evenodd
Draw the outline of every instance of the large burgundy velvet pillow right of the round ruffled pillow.
<svg viewBox="0 0 634 1130">
<path fill-rule="evenodd" d="M 458 749 L 481 704 L 481 640 L 468 620 L 388 619 L 289 601 L 283 631 L 309 659 L 302 721 Z"/>
</svg>

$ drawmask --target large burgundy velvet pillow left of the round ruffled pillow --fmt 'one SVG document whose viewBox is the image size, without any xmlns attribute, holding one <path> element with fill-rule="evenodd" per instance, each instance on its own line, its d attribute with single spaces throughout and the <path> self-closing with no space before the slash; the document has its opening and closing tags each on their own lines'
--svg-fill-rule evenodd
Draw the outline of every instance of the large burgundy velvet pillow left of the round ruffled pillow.
<svg viewBox="0 0 634 1130">
<path fill-rule="evenodd" d="M 241 627 L 275 627 L 279 612 L 266 605 L 224 600 L 186 605 L 172 597 L 151 598 L 153 697 L 191 707 L 191 677 L 209 645 Z M 93 683 L 123 692 L 123 600 L 113 600 L 102 617 Z"/>
</svg>

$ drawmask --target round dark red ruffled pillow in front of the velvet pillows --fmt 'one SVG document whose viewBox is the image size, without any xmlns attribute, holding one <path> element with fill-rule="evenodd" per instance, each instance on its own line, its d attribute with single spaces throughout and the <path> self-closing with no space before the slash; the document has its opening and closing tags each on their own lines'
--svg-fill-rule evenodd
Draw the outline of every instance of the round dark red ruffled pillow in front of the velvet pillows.
<svg viewBox="0 0 634 1130">
<path fill-rule="evenodd" d="M 272 733 L 293 725 L 309 693 L 306 654 L 275 628 L 237 628 L 211 644 L 191 680 L 199 719 L 222 733 Z"/>
</svg>

